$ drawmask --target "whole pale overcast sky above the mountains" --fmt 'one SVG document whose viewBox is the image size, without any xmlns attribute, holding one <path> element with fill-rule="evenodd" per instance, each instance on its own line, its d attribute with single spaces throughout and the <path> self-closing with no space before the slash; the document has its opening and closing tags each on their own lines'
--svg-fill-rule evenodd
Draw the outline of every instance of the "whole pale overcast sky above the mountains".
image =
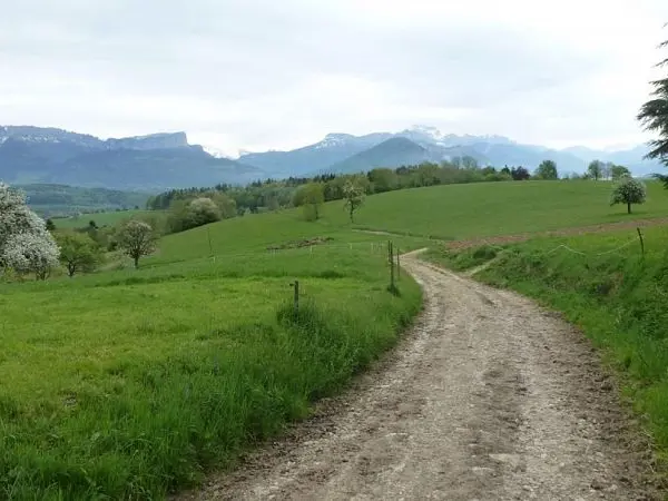
<svg viewBox="0 0 668 501">
<path fill-rule="evenodd" d="M 0 124 L 289 149 L 328 132 L 641 143 L 666 0 L 0 0 Z"/>
</svg>

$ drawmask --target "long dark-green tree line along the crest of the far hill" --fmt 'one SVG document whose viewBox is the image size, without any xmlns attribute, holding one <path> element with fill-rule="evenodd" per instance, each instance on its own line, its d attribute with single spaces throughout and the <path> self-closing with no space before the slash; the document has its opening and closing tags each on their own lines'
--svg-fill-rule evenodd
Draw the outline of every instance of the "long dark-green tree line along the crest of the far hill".
<svg viewBox="0 0 668 501">
<path fill-rule="evenodd" d="M 595 160 L 586 173 L 564 178 L 600 180 L 620 179 L 623 176 L 630 176 L 626 167 Z M 559 178 L 557 164 L 549 159 L 530 173 L 522 166 L 482 167 L 474 158 L 463 157 L 440 164 L 426 161 L 397 168 L 375 168 L 366 174 L 323 174 L 281 180 L 269 178 L 247 186 L 219 184 L 208 188 L 171 189 L 150 197 L 146 206 L 167 213 L 159 225 L 163 233 L 178 233 L 220 219 L 288 207 L 304 207 L 304 217 L 315 220 L 321 216 L 320 205 L 332 200 L 344 200 L 353 219 L 364 196 L 397 189 Z"/>
</svg>

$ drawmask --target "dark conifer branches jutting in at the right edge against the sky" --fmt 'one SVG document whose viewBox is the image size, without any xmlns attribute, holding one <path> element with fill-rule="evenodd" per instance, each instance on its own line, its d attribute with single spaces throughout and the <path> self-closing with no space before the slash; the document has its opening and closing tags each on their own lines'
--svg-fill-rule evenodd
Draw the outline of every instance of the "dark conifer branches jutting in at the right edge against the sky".
<svg viewBox="0 0 668 501">
<path fill-rule="evenodd" d="M 668 40 L 661 43 L 659 48 L 668 48 Z M 668 66 L 668 59 L 657 66 Z M 647 154 L 647 158 L 657 158 L 668 166 L 668 76 L 652 81 L 651 86 L 654 87 L 652 99 L 642 105 L 638 114 L 638 120 L 640 120 L 645 130 L 655 132 L 658 136 L 657 139 L 650 141 L 651 150 Z M 668 187 L 668 176 L 659 175 L 656 177 L 659 177 Z"/>
</svg>

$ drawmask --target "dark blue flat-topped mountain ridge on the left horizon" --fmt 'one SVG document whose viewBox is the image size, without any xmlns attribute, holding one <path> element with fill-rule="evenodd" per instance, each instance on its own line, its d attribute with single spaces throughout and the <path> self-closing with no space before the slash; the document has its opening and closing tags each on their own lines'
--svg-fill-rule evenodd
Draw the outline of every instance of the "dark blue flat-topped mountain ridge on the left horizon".
<svg viewBox="0 0 668 501">
<path fill-rule="evenodd" d="M 0 179 L 10 184 L 159 191 L 263 176 L 257 167 L 189 145 L 185 132 L 101 140 L 55 128 L 0 127 Z"/>
</svg>

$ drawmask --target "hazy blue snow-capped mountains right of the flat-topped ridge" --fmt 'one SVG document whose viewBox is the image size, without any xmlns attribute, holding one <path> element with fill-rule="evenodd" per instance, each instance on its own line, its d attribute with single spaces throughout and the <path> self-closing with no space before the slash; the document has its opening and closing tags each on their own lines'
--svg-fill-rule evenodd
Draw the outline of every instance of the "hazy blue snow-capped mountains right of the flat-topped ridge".
<svg viewBox="0 0 668 501">
<path fill-rule="evenodd" d="M 405 141 L 391 140 L 395 138 Z M 458 136 L 443 134 L 436 127 L 416 125 L 399 132 L 365 136 L 328 134 L 323 140 L 298 149 L 245 154 L 239 159 L 262 168 L 272 177 L 361 171 L 422 161 L 439 163 L 464 156 L 474 158 L 481 165 L 523 166 L 530 170 L 542 160 L 552 159 L 562 173 L 583 173 L 595 158 L 626 165 L 638 175 L 660 170 L 657 163 L 642 159 L 644 153 L 644 146 L 615 153 L 583 147 L 557 150 L 544 146 L 522 145 L 503 136 Z"/>
</svg>

